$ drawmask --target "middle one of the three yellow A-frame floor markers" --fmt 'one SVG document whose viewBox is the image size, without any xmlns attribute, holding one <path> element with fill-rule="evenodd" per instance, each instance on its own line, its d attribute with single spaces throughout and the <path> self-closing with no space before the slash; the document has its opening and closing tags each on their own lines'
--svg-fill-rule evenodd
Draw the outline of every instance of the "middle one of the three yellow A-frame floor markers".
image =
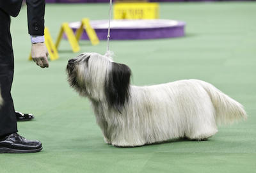
<svg viewBox="0 0 256 173">
<path fill-rule="evenodd" d="M 56 41 L 56 48 L 58 49 L 60 45 L 60 40 L 62 39 L 63 33 L 66 34 L 67 40 L 70 43 L 70 46 L 73 50 L 73 52 L 78 52 L 80 50 L 79 44 L 77 42 L 76 36 L 74 35 L 74 32 L 72 29 L 68 26 L 68 23 L 63 23 L 61 25 L 60 33 L 58 35 L 57 41 Z"/>
</svg>

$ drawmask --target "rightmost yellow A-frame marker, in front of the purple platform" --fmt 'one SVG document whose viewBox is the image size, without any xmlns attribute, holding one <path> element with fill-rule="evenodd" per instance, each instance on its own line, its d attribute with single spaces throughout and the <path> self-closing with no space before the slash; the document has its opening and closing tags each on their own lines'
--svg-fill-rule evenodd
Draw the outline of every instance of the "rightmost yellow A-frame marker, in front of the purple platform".
<svg viewBox="0 0 256 173">
<path fill-rule="evenodd" d="M 87 18 L 82 20 L 81 26 L 76 31 L 77 41 L 81 38 L 81 35 L 82 35 L 84 30 L 86 31 L 86 33 L 88 35 L 88 38 L 90 39 L 92 45 L 99 44 L 99 38 L 98 38 L 97 34 L 95 33 L 95 30 L 90 25 L 90 20 L 87 19 Z"/>
</svg>

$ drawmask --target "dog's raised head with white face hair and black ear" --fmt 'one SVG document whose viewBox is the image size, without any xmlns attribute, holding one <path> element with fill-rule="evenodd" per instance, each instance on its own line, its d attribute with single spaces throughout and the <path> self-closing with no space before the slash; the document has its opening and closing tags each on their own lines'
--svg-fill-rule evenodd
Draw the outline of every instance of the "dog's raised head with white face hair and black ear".
<svg viewBox="0 0 256 173">
<path fill-rule="evenodd" d="M 95 102 L 108 102 L 120 111 L 129 99 L 131 70 L 113 62 L 111 54 L 80 54 L 68 61 L 67 73 L 70 86 Z"/>
</svg>

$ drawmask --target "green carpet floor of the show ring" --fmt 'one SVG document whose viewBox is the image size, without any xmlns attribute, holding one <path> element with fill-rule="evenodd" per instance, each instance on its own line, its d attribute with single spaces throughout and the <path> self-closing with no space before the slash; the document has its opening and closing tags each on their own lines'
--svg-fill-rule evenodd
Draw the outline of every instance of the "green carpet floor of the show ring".
<svg viewBox="0 0 256 173">
<path fill-rule="evenodd" d="M 1 154 L 0 172 L 256 172 L 256 3 L 161 3 L 161 19 L 184 20 L 186 36 L 163 40 L 111 41 L 115 61 L 130 66 L 132 84 L 149 85 L 180 79 L 214 84 L 242 103 L 247 121 L 221 126 L 210 140 L 136 148 L 104 143 L 88 100 L 66 81 L 71 52 L 61 41 L 60 59 L 41 69 L 28 61 L 30 43 L 26 8 L 12 19 L 17 110 L 35 114 L 18 123 L 19 133 L 42 141 L 34 154 Z M 108 18 L 108 4 L 47 4 L 45 25 L 56 40 L 62 22 L 83 17 Z M 81 41 L 80 52 L 104 54 Z"/>
</svg>

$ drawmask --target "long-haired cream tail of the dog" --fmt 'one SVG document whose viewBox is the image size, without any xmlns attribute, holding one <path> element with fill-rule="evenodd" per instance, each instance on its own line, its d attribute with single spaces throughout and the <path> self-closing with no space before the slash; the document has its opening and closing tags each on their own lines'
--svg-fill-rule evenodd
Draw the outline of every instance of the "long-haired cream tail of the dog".
<svg viewBox="0 0 256 173">
<path fill-rule="evenodd" d="M 217 124 L 231 124 L 240 119 L 246 119 L 243 105 L 236 102 L 219 89 L 202 80 L 196 80 L 209 94 L 216 111 Z"/>
</svg>

